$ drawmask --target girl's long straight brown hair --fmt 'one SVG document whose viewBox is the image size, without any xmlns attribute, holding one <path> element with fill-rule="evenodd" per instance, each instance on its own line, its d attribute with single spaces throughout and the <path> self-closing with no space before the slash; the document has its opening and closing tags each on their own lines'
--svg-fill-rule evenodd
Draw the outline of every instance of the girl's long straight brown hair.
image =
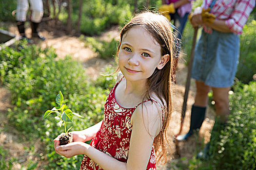
<svg viewBox="0 0 256 170">
<path fill-rule="evenodd" d="M 137 16 L 133 17 L 121 30 L 120 32 L 120 42 L 118 46 L 118 52 L 120 49 L 120 44 L 123 35 L 133 27 L 142 27 L 145 31 L 151 34 L 161 47 L 161 56 L 165 54 L 170 55 L 169 61 L 162 69 L 156 68 L 151 77 L 148 78 L 148 91 L 145 96 L 150 94 L 156 94 L 157 97 L 164 104 L 166 102 L 166 108 L 164 109 L 164 118 L 162 130 L 155 137 L 154 148 L 157 154 L 157 162 L 162 160 L 163 163 L 166 162 L 167 154 L 167 128 L 170 122 L 172 113 L 172 96 L 171 96 L 171 86 L 173 85 L 173 51 L 174 51 L 174 41 L 173 41 L 173 31 L 171 29 L 169 20 L 161 14 L 153 12 L 142 12 Z M 118 56 L 117 52 L 117 56 Z"/>
</svg>

